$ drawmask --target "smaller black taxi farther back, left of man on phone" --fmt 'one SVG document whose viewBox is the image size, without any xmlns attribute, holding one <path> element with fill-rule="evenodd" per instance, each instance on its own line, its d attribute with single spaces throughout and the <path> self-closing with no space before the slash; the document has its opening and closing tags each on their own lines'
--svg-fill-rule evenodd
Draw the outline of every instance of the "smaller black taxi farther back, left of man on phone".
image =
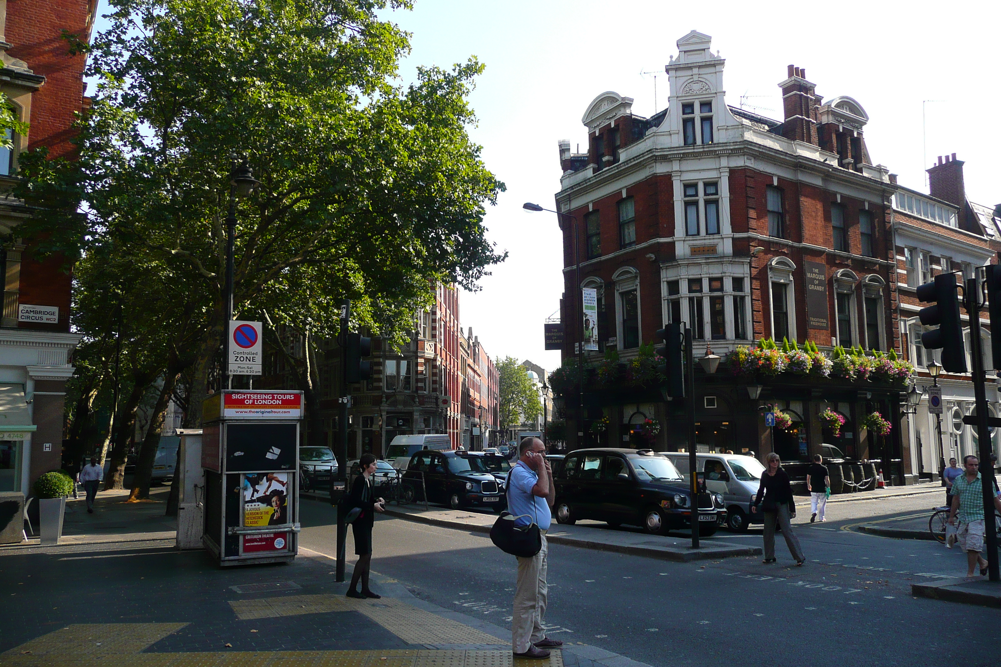
<svg viewBox="0 0 1001 667">
<path fill-rule="evenodd" d="M 403 502 L 423 500 L 460 507 L 490 507 L 499 512 L 508 505 L 504 481 L 494 476 L 478 452 L 422 450 L 410 458 L 403 473 Z"/>
</svg>

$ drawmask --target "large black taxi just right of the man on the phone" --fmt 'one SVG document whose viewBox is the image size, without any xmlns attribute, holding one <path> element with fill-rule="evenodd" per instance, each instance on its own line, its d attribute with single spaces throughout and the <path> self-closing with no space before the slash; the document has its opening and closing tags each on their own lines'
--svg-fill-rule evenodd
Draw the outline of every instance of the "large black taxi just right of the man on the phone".
<svg viewBox="0 0 1001 667">
<path fill-rule="evenodd" d="M 648 533 L 692 527 L 691 490 L 667 456 L 650 449 L 579 449 L 554 474 L 557 521 L 596 519 L 611 526 L 642 526 Z M 699 534 L 726 522 L 723 496 L 699 493 Z"/>
</svg>

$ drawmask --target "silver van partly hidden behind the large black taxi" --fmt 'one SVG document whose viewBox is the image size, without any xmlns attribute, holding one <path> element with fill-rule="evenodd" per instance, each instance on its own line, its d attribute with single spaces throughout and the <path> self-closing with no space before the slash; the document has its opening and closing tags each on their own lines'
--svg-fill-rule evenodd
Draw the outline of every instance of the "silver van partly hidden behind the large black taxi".
<svg viewBox="0 0 1001 667">
<path fill-rule="evenodd" d="M 686 452 L 661 452 L 675 464 L 689 484 L 689 454 Z M 699 472 L 705 473 L 706 490 L 723 494 L 727 508 L 727 527 L 743 532 L 752 523 L 762 523 L 759 512 L 751 512 L 751 504 L 758 493 L 765 466 L 753 456 L 742 454 L 696 454 Z"/>
</svg>

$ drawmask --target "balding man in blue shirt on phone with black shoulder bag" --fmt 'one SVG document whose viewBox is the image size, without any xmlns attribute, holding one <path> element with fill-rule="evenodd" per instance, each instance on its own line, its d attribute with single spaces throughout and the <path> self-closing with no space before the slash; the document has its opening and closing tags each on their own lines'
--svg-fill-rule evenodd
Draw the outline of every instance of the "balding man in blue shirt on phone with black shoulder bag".
<svg viewBox="0 0 1001 667">
<path fill-rule="evenodd" d="M 515 613 L 511 621 L 512 650 L 515 657 L 542 660 L 550 657 L 548 649 L 563 646 L 543 631 L 543 618 L 549 602 L 546 582 L 550 529 L 556 502 L 553 468 L 546 458 L 546 445 L 539 438 L 528 437 L 519 445 L 520 458 L 511 469 L 508 482 L 508 511 L 516 526 L 535 521 L 542 535 L 543 548 L 531 558 L 518 556 L 518 584 L 515 586 Z"/>
</svg>

